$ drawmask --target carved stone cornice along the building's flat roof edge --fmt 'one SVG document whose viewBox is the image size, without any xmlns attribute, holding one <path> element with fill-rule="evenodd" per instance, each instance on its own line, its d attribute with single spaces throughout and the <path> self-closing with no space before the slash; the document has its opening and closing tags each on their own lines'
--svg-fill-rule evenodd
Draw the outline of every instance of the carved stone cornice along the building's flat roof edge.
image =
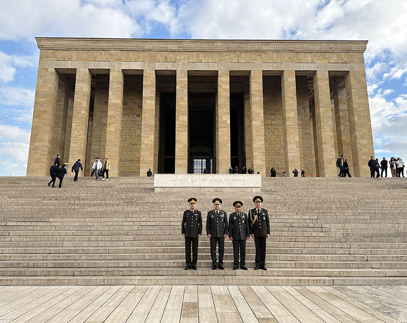
<svg viewBox="0 0 407 323">
<path fill-rule="evenodd" d="M 35 38 L 39 49 L 190 52 L 325 52 L 366 50 L 367 41 L 347 40 L 203 40 L 137 38 Z"/>
</svg>

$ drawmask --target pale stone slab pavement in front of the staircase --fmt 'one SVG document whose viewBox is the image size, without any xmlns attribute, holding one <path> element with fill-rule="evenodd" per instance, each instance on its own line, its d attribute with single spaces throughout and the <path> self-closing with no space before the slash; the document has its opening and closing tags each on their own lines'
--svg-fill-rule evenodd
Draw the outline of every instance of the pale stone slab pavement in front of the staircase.
<svg viewBox="0 0 407 323">
<path fill-rule="evenodd" d="M 407 286 L 1 286 L 9 322 L 407 322 Z"/>
</svg>

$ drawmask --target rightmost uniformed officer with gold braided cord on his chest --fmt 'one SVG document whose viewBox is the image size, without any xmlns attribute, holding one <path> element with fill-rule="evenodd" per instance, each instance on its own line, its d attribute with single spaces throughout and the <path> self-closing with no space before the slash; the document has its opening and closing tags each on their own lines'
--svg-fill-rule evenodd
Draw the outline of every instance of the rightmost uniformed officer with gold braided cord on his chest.
<svg viewBox="0 0 407 323">
<path fill-rule="evenodd" d="M 263 198 L 255 196 L 253 202 L 256 205 L 249 211 L 250 234 L 256 246 L 256 267 L 254 270 L 266 268 L 266 239 L 270 235 L 270 222 L 266 209 L 262 208 Z"/>
</svg>

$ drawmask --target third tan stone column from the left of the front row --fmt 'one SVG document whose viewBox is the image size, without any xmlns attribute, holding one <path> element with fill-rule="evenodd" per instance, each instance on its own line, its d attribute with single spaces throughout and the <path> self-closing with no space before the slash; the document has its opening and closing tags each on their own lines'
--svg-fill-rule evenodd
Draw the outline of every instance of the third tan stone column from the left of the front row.
<svg viewBox="0 0 407 323">
<path fill-rule="evenodd" d="M 108 122 L 106 127 L 106 154 L 109 158 L 109 175 L 119 176 L 120 140 L 122 139 L 123 72 L 111 69 L 109 77 Z M 154 142 L 154 141 L 153 141 Z M 154 147 L 154 144 L 153 144 Z M 102 164 L 104 160 L 102 160 Z"/>
</svg>

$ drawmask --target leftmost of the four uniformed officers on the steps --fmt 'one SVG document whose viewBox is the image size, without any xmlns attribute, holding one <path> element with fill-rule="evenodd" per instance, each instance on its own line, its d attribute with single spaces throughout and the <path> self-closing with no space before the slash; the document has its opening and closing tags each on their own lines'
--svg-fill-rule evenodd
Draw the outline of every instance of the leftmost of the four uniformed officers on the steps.
<svg viewBox="0 0 407 323">
<path fill-rule="evenodd" d="M 198 239 L 202 234 L 202 215 L 200 211 L 195 209 L 196 201 L 195 198 L 188 200 L 189 210 L 184 211 L 182 216 L 181 233 L 185 238 L 185 260 L 187 262 L 185 270 L 190 268 L 196 270 L 196 262 L 198 261 Z"/>
</svg>

